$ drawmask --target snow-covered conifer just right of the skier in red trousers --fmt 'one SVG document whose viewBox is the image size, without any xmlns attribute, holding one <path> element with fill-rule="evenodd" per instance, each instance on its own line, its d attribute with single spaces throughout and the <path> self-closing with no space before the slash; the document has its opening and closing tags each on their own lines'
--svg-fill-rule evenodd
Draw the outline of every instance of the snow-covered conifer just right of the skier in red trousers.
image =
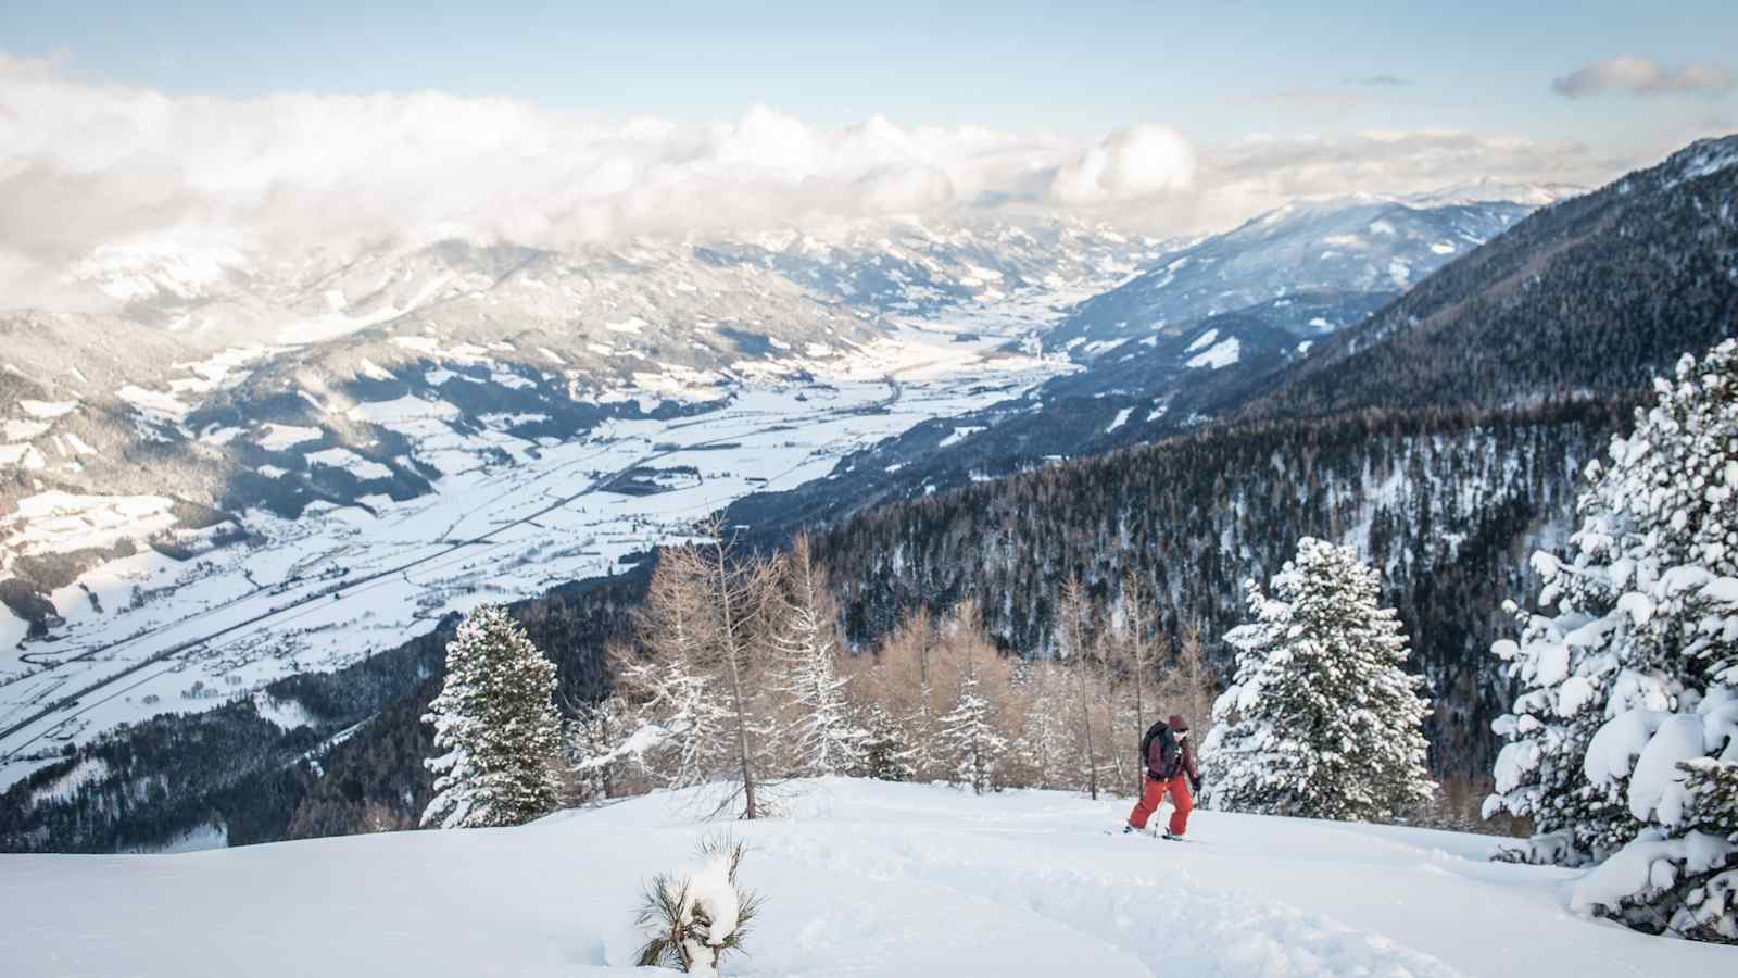
<svg viewBox="0 0 1738 978">
<path fill-rule="evenodd" d="M 1201 750 L 1204 806 L 1383 821 L 1430 799 L 1430 705 L 1401 670 L 1406 635 L 1378 585 L 1352 548 L 1312 538 L 1274 597 L 1248 583 L 1255 621 L 1227 635 L 1237 675 Z"/>
</svg>

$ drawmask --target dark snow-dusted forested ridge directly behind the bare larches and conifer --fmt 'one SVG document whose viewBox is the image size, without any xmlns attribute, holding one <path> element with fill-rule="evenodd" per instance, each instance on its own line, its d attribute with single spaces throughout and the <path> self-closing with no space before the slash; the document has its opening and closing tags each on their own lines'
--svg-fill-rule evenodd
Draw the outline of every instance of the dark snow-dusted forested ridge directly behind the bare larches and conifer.
<svg viewBox="0 0 1738 978">
<path fill-rule="evenodd" d="M 1224 656 L 1244 579 L 1277 571 L 1300 536 L 1356 545 L 1430 679 L 1434 766 L 1474 773 L 1507 705 L 1486 654 L 1500 604 L 1526 588 L 1524 553 L 1568 519 L 1582 466 L 1627 414 L 1616 400 L 1206 430 L 871 510 L 813 546 L 859 644 L 911 609 L 972 597 L 1010 651 L 1048 654 L 1069 576 L 1109 621 L 1135 573 L 1168 633 L 1201 628 Z"/>
</svg>

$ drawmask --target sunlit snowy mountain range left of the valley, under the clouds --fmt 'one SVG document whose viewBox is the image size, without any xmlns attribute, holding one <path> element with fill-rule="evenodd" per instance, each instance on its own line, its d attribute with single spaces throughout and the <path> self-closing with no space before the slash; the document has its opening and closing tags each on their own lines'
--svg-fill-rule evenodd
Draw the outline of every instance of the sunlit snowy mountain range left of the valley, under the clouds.
<svg viewBox="0 0 1738 978">
<path fill-rule="evenodd" d="M 572 252 L 97 249 L 63 287 L 108 311 L 0 311 L 0 600 L 40 628 L 40 595 L 115 555 L 245 538 L 254 508 L 410 499 L 455 466 L 511 461 L 502 440 L 537 451 L 605 419 L 848 371 L 897 317 L 1086 294 L 1158 249 L 1060 218 Z M 433 426 L 424 437 L 367 407 L 401 399 Z M 52 492 L 162 499 L 160 519 L 54 545 L 33 527 L 66 506 L 21 508 Z"/>
</svg>

